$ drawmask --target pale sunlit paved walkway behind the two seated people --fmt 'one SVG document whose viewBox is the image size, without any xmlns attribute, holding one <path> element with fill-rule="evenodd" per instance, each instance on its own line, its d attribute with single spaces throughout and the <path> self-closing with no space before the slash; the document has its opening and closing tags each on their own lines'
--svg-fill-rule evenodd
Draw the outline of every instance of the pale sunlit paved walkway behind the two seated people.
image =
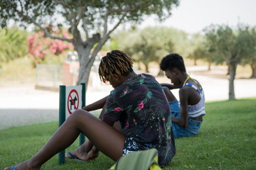
<svg viewBox="0 0 256 170">
<path fill-rule="evenodd" d="M 210 77 L 206 67 L 188 67 L 191 77 L 203 85 L 206 102 L 228 100 L 228 79 Z M 169 83 L 166 77 L 157 77 L 159 82 Z M 256 79 L 235 79 L 235 97 L 256 97 Z M 33 84 L 0 88 L 0 130 L 21 125 L 58 121 L 59 93 L 34 88 Z M 109 94 L 112 86 L 88 88 L 86 103 L 90 104 Z M 178 90 L 174 91 L 178 98 Z M 96 111 L 98 113 L 99 111 Z"/>
</svg>

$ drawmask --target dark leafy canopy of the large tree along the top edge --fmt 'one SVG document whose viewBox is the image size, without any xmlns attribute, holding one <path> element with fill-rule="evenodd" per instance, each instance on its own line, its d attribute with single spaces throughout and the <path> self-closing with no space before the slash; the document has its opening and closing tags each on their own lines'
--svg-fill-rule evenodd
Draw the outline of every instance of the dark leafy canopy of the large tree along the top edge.
<svg viewBox="0 0 256 170">
<path fill-rule="evenodd" d="M 142 21 L 143 16 L 156 14 L 159 19 L 164 20 L 171 15 L 173 6 L 178 6 L 178 0 L 146 0 L 146 1 L 117 1 L 117 0 L 95 0 L 95 1 L 0 1 L 1 27 L 5 27 L 10 19 L 18 21 L 23 26 L 28 26 L 31 19 L 26 16 L 33 16 L 33 20 L 39 25 L 49 24 L 63 26 L 63 23 L 70 24 L 74 16 L 81 15 L 84 12 L 84 21 L 87 28 L 95 30 L 102 26 L 102 20 L 105 20 L 106 11 L 110 22 L 119 18 L 120 14 L 127 11 L 124 21 Z M 58 15 L 56 15 L 58 14 Z M 58 20 L 63 16 L 65 20 Z M 82 16 L 79 16 L 82 17 Z M 77 18 L 78 19 L 78 18 Z M 79 18 L 81 19 L 81 18 Z M 32 21 L 33 22 L 33 21 Z M 46 23 L 47 22 L 47 23 Z"/>
</svg>

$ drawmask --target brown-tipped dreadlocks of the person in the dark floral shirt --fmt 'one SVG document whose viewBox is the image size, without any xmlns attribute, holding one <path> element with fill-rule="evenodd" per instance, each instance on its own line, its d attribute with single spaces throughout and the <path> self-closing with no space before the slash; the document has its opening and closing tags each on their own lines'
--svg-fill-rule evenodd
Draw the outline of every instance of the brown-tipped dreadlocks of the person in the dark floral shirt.
<svg viewBox="0 0 256 170">
<path fill-rule="evenodd" d="M 109 81 L 113 74 L 122 74 L 127 76 L 132 69 L 132 58 L 120 50 L 107 52 L 105 57 L 100 60 L 99 75 L 103 82 Z"/>
</svg>

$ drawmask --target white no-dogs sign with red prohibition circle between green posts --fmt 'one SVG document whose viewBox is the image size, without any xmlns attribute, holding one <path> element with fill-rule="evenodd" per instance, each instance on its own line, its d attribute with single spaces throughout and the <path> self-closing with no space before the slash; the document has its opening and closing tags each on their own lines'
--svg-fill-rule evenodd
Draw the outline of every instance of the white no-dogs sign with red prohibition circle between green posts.
<svg viewBox="0 0 256 170">
<path fill-rule="evenodd" d="M 71 113 L 79 108 L 82 108 L 82 85 L 66 87 L 66 111 L 65 118 L 67 119 Z"/>
</svg>

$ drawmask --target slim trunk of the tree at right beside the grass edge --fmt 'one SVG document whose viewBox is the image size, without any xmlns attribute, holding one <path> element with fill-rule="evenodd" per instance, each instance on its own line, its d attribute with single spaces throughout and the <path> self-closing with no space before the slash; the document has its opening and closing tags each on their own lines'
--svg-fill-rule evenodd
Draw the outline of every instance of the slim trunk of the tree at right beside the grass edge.
<svg viewBox="0 0 256 170">
<path fill-rule="evenodd" d="M 238 64 L 230 64 L 229 66 L 229 73 L 230 73 L 230 78 L 229 78 L 229 91 L 228 91 L 228 98 L 229 100 L 235 100 L 235 87 L 234 87 L 234 80 L 235 80 L 235 72 L 236 72 L 236 67 Z"/>
</svg>

